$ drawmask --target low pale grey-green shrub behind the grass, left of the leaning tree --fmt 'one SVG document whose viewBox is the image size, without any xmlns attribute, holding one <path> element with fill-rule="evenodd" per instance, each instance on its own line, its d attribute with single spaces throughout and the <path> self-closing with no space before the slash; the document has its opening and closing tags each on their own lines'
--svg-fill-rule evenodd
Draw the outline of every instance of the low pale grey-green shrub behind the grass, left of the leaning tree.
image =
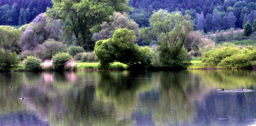
<svg viewBox="0 0 256 126">
<path fill-rule="evenodd" d="M 74 56 L 76 60 L 81 60 L 82 62 L 99 62 L 97 56 L 93 52 L 83 52 L 78 53 Z"/>
</svg>

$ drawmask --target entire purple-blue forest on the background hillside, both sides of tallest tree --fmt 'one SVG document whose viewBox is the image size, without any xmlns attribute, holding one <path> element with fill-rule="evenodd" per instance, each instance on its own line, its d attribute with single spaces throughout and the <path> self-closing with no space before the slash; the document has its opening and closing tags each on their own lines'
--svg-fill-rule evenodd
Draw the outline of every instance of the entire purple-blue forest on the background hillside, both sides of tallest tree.
<svg viewBox="0 0 256 126">
<path fill-rule="evenodd" d="M 160 9 L 189 14 L 196 30 L 205 33 L 243 29 L 256 18 L 256 0 L 130 0 L 129 5 L 134 8 L 129 16 L 139 27 L 149 26 L 149 18 Z M 1 0 L 0 25 L 28 24 L 47 7 L 52 7 L 51 0 Z"/>
</svg>

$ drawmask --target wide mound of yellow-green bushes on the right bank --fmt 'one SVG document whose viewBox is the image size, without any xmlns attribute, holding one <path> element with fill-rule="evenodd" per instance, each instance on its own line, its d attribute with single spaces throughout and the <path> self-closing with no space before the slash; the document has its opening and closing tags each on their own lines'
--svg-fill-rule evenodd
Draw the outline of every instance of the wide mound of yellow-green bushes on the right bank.
<svg viewBox="0 0 256 126">
<path fill-rule="evenodd" d="M 239 49 L 235 45 L 213 48 L 203 55 L 202 63 L 206 68 L 251 68 L 255 62 L 256 50 Z"/>
</svg>

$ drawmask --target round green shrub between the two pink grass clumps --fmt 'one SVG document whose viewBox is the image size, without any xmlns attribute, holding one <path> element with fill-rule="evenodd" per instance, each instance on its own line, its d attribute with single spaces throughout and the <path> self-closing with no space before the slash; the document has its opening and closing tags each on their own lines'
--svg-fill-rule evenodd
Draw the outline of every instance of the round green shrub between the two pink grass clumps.
<svg viewBox="0 0 256 126">
<path fill-rule="evenodd" d="M 65 63 L 72 59 L 72 56 L 70 56 L 68 53 L 59 52 L 52 56 L 52 64 L 54 66 L 55 70 L 62 70 L 65 66 Z"/>
</svg>

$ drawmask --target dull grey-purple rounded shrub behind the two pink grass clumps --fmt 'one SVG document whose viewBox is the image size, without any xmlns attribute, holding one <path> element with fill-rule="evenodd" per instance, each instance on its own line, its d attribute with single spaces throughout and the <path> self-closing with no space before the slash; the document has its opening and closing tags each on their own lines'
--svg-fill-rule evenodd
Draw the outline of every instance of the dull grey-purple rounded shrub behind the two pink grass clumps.
<svg viewBox="0 0 256 126">
<path fill-rule="evenodd" d="M 42 45 L 38 45 L 34 50 L 36 57 L 42 60 L 51 59 L 52 55 L 58 52 L 66 51 L 67 46 L 65 44 L 62 42 L 54 41 L 53 39 L 44 42 Z"/>
</svg>

